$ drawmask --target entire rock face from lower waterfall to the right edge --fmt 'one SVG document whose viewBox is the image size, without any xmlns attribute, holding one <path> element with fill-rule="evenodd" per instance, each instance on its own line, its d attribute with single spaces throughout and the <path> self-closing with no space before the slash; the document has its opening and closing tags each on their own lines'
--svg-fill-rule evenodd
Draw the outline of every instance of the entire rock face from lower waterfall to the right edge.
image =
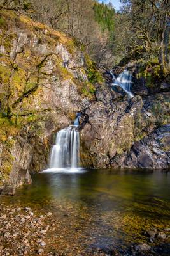
<svg viewBox="0 0 170 256">
<path fill-rule="evenodd" d="M 92 104 L 81 130 L 82 165 L 169 168 L 169 97 L 167 92 Z"/>
</svg>

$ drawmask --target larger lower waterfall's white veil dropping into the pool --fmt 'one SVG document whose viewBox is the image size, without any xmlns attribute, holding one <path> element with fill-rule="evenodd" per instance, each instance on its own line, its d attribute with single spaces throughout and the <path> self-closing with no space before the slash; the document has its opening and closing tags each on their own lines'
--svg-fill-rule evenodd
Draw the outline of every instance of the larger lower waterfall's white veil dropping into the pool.
<svg viewBox="0 0 170 256">
<path fill-rule="evenodd" d="M 50 168 L 77 168 L 79 163 L 79 131 L 71 125 L 57 133 L 50 157 Z"/>
</svg>

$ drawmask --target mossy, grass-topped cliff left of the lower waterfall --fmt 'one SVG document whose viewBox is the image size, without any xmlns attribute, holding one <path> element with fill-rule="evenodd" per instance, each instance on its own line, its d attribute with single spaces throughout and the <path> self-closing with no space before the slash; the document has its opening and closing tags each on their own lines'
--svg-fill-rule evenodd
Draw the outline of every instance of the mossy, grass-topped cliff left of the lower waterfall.
<svg viewBox="0 0 170 256">
<path fill-rule="evenodd" d="M 72 38 L 9 11 L 1 11 L 1 21 L 3 188 L 30 183 L 29 172 L 46 167 L 55 132 L 88 108 L 94 94 L 83 68 L 84 55 Z"/>
</svg>

